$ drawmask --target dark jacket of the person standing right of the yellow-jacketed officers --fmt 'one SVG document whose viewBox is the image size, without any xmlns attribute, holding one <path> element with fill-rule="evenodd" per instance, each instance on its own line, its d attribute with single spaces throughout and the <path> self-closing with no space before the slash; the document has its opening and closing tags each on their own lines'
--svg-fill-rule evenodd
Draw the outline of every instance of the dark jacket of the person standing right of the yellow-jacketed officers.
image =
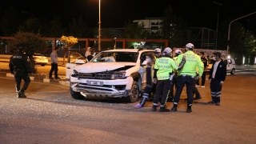
<svg viewBox="0 0 256 144">
<path fill-rule="evenodd" d="M 215 64 L 215 62 L 213 63 L 213 66 L 210 69 L 209 79 L 212 78 L 212 75 L 213 75 L 213 72 L 214 72 L 214 64 Z M 225 79 L 226 79 L 226 63 L 223 62 L 222 60 L 221 60 L 221 62 L 218 63 L 218 67 L 217 67 L 214 79 L 215 80 L 220 80 L 222 82 L 224 82 Z"/>
</svg>

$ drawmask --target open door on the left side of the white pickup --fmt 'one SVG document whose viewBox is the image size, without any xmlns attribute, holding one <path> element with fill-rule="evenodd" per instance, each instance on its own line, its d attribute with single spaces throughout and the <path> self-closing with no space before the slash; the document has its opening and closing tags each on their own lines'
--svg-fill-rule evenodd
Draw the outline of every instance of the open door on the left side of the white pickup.
<svg viewBox="0 0 256 144">
<path fill-rule="evenodd" d="M 66 79 L 70 79 L 75 66 L 85 64 L 86 62 L 87 59 L 84 54 L 79 51 L 70 51 L 66 62 Z"/>
</svg>

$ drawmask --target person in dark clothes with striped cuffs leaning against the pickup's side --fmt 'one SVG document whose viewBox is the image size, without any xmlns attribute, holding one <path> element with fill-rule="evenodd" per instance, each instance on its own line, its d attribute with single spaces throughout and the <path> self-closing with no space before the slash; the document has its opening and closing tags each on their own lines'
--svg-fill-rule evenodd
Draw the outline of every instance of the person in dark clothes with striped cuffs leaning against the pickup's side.
<svg viewBox="0 0 256 144">
<path fill-rule="evenodd" d="M 154 68 L 154 62 L 155 62 L 154 55 L 146 54 L 146 60 L 142 62 L 142 66 L 146 66 L 146 88 L 143 91 L 141 102 L 139 102 L 137 105 L 134 106 L 137 109 L 141 109 L 145 105 L 146 100 L 149 98 L 153 90 L 151 70 L 152 68 Z"/>
</svg>

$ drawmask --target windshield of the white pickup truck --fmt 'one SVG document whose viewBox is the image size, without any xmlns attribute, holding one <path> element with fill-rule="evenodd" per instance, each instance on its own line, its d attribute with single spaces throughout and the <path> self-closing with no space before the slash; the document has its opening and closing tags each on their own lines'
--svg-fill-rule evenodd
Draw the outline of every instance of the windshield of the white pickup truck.
<svg viewBox="0 0 256 144">
<path fill-rule="evenodd" d="M 90 62 L 137 62 L 137 52 L 101 52 Z"/>
</svg>

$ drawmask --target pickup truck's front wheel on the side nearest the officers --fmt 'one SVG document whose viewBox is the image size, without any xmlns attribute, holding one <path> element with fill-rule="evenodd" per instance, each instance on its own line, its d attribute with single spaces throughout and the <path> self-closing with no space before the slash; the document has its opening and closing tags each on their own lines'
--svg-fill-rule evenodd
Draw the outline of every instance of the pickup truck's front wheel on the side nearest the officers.
<svg viewBox="0 0 256 144">
<path fill-rule="evenodd" d="M 131 86 L 130 95 L 127 97 L 124 97 L 124 100 L 129 103 L 134 103 L 138 101 L 139 97 L 139 88 L 138 88 L 138 82 L 133 82 L 133 85 Z"/>
</svg>

